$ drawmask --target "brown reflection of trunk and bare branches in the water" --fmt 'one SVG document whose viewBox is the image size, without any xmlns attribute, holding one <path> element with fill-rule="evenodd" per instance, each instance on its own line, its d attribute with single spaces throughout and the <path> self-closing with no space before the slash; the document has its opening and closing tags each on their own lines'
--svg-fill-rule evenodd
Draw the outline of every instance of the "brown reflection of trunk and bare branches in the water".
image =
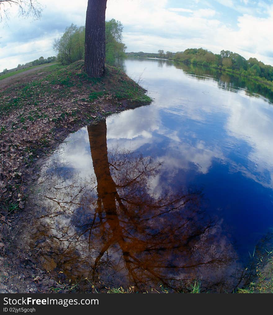
<svg viewBox="0 0 273 315">
<path fill-rule="evenodd" d="M 201 193 L 164 183 L 161 191 L 154 189 L 163 165 L 108 152 L 106 131 L 105 120 L 88 127 L 90 179 L 45 173 L 45 213 L 32 235 L 44 268 L 68 279 L 88 278 L 100 288 L 163 284 L 181 290 L 195 278 L 212 291 L 236 288 L 236 254 L 220 224 L 200 210 Z"/>
</svg>

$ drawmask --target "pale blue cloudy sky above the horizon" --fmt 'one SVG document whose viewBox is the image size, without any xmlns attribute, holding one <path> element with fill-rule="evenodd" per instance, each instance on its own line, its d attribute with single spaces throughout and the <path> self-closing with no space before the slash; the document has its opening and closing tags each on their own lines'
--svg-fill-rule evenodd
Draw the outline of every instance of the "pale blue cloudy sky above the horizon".
<svg viewBox="0 0 273 315">
<path fill-rule="evenodd" d="M 26 0 L 28 1 L 28 0 Z M 57 53 L 54 39 L 72 23 L 85 24 L 87 0 L 39 0 L 39 20 L 12 7 L 0 22 L 0 72 Z M 123 26 L 127 52 L 230 50 L 273 65 L 273 1 L 261 0 L 108 0 L 106 20 Z"/>
</svg>

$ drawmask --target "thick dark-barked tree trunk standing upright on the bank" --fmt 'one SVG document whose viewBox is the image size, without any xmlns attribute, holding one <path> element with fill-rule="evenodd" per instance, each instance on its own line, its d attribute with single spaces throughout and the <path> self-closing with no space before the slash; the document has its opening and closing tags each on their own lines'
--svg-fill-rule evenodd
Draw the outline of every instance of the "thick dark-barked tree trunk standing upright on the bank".
<svg viewBox="0 0 273 315">
<path fill-rule="evenodd" d="M 88 0 L 84 70 L 89 77 L 97 78 L 104 75 L 106 2 L 107 0 Z"/>
</svg>

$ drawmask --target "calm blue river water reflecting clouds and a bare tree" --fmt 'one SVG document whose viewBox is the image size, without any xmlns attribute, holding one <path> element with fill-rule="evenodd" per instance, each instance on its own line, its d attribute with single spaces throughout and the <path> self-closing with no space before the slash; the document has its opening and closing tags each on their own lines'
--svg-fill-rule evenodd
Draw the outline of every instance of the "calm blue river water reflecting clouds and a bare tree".
<svg viewBox="0 0 273 315">
<path fill-rule="evenodd" d="M 125 69 L 154 102 L 79 130 L 49 158 L 31 247 L 62 279 L 88 278 L 82 290 L 202 279 L 231 292 L 273 231 L 272 95 L 168 61 Z"/>
</svg>

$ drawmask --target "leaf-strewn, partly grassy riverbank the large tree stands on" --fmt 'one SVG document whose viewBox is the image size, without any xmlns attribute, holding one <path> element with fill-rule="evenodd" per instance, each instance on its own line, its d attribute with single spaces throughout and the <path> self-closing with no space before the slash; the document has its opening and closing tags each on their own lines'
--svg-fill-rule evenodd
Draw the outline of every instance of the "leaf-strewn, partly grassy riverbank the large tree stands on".
<svg viewBox="0 0 273 315">
<path fill-rule="evenodd" d="M 149 104 L 146 90 L 119 69 L 91 79 L 83 60 L 0 81 L 0 292 L 59 291 L 50 275 L 14 246 L 13 230 L 45 157 L 71 132 L 113 113 Z M 71 286 L 61 286 L 70 292 Z"/>
</svg>

